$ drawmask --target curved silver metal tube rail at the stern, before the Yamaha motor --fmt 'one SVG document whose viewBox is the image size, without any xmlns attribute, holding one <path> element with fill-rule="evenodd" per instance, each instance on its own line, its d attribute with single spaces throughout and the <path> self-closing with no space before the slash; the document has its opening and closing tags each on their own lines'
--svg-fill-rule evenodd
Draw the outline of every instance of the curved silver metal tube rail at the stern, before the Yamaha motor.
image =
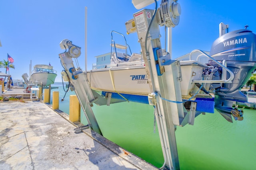
<svg viewBox="0 0 256 170">
<path fill-rule="evenodd" d="M 208 59 L 214 61 L 216 64 L 218 64 L 222 68 L 222 70 L 223 70 L 222 80 L 192 80 L 192 82 L 196 82 L 196 83 L 232 83 L 232 80 L 234 79 L 234 73 L 232 71 L 230 71 L 226 66 L 224 66 L 224 65 L 226 65 L 226 60 L 223 61 L 223 64 L 224 64 L 223 65 L 223 64 L 219 63 L 218 61 L 216 61 L 215 59 L 213 59 L 212 57 L 210 57 L 209 55 L 207 55 L 206 53 L 204 53 L 204 51 L 199 50 L 199 49 L 195 49 L 190 53 L 190 55 L 189 55 L 190 60 L 192 60 L 192 53 L 194 53 L 196 51 L 202 53 L 201 55 L 198 55 L 198 57 L 196 58 L 196 61 L 198 61 L 198 59 L 202 55 L 204 55 L 204 56 L 208 57 Z M 230 78 L 228 80 L 226 80 L 226 71 L 228 71 L 230 74 Z"/>
</svg>

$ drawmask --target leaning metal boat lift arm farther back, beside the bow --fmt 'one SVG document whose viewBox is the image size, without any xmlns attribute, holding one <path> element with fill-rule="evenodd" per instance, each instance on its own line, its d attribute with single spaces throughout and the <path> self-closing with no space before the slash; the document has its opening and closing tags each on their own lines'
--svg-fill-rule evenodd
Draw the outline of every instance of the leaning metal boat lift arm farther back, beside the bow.
<svg viewBox="0 0 256 170">
<path fill-rule="evenodd" d="M 97 98 L 92 94 L 86 73 L 83 72 L 81 68 L 75 68 L 73 64 L 72 58 L 80 56 L 80 47 L 73 45 L 72 41 L 69 41 L 68 39 L 62 40 L 60 47 L 62 49 L 68 49 L 68 52 L 59 54 L 62 66 L 65 69 L 64 75 L 66 76 L 66 80 L 70 81 L 72 84 L 71 89 L 76 93 L 78 101 L 86 115 L 89 127 L 102 135 L 98 122 L 92 111 L 92 104 L 97 101 Z"/>
</svg>

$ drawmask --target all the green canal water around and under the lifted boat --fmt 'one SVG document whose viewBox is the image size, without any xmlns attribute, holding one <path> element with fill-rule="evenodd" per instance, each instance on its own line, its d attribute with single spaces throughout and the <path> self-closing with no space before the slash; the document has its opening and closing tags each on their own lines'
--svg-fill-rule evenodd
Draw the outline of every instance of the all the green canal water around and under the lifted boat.
<svg viewBox="0 0 256 170">
<path fill-rule="evenodd" d="M 59 88 L 60 99 L 64 96 Z M 61 96 L 63 94 L 63 96 Z M 60 109 L 68 113 L 68 95 Z M 92 107 L 104 137 L 161 167 L 164 162 L 154 109 L 123 102 Z M 85 116 L 81 119 L 85 120 Z M 85 121 L 84 121 L 85 123 Z M 194 125 L 177 127 L 181 170 L 252 170 L 256 166 L 256 110 L 244 109 L 244 120 L 229 123 L 217 111 L 199 115 Z"/>
</svg>

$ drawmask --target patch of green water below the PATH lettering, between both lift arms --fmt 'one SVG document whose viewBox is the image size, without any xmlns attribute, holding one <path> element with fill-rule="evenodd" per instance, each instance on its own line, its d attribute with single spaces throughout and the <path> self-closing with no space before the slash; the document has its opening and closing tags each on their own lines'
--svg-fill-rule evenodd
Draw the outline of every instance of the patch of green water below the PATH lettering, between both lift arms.
<svg viewBox="0 0 256 170">
<path fill-rule="evenodd" d="M 156 166 L 164 162 L 158 129 L 154 133 L 154 108 L 124 102 L 93 107 L 104 137 Z"/>
</svg>

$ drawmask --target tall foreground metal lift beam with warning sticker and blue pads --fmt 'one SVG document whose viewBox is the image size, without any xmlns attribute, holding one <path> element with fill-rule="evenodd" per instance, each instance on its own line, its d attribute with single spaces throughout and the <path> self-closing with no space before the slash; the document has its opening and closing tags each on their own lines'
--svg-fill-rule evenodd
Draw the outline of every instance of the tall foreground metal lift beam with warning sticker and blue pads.
<svg viewBox="0 0 256 170">
<path fill-rule="evenodd" d="M 179 103 L 182 101 L 180 64 L 176 60 L 171 60 L 168 53 L 162 54 L 160 30 L 156 20 L 152 21 L 146 39 L 153 13 L 153 10 L 141 10 L 134 14 L 134 21 L 152 93 L 149 95 L 149 102 L 155 105 L 155 116 L 166 162 L 165 168 L 178 170 L 180 165 L 175 129 L 176 125 L 180 125 L 179 118 L 184 117 L 183 105 Z"/>
</svg>

